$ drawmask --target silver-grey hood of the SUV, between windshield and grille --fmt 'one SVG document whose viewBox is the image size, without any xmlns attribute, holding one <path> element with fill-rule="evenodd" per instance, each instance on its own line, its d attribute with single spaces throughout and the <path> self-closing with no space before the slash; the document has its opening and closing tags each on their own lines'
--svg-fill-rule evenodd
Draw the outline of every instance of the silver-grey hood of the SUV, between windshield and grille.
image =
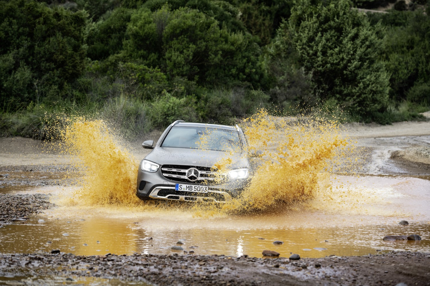
<svg viewBox="0 0 430 286">
<path fill-rule="evenodd" d="M 156 147 L 145 159 L 160 165 L 212 167 L 219 160 L 227 158 L 227 154 L 229 153 L 223 151 Z M 244 154 L 230 155 L 230 159 L 231 169 L 248 167 L 248 160 Z"/>
</svg>

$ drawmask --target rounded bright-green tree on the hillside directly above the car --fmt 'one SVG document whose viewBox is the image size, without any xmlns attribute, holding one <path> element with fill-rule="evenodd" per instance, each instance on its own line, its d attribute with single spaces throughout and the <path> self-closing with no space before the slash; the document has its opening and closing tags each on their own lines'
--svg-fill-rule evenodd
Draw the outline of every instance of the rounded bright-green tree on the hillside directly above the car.
<svg viewBox="0 0 430 286">
<path fill-rule="evenodd" d="M 264 79 L 255 39 L 249 33 L 220 28 L 215 18 L 196 9 L 139 9 L 131 17 L 126 36 L 127 57 L 158 66 L 170 79 L 181 77 L 203 85 L 240 81 L 255 86 Z"/>
</svg>

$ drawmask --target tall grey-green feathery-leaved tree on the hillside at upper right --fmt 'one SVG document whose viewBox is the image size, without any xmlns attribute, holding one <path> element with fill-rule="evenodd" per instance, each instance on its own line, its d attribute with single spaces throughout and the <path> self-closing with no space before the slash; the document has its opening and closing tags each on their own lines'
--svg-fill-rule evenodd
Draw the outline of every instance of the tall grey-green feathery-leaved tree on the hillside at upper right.
<svg viewBox="0 0 430 286">
<path fill-rule="evenodd" d="M 364 114 L 385 107 L 389 74 L 380 60 L 382 28 L 350 9 L 349 0 L 295 0 L 278 35 L 312 73 L 322 98 L 333 98 Z"/>
</svg>

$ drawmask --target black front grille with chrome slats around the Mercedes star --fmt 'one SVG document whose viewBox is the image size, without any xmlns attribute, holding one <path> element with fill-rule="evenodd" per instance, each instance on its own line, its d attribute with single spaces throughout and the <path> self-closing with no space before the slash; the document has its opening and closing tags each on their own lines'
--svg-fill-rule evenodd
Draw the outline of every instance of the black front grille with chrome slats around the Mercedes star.
<svg viewBox="0 0 430 286">
<path fill-rule="evenodd" d="M 186 172 L 190 168 L 196 168 L 200 171 L 200 177 L 196 181 L 189 181 L 186 177 Z M 164 178 L 167 178 L 172 181 L 183 182 L 188 184 L 206 184 L 206 185 L 214 185 L 219 184 L 220 181 L 224 180 L 224 177 L 221 177 L 217 173 L 218 170 L 212 169 L 209 167 L 200 167 L 200 166 L 186 166 L 186 165 L 163 165 L 161 167 L 161 173 Z"/>
</svg>

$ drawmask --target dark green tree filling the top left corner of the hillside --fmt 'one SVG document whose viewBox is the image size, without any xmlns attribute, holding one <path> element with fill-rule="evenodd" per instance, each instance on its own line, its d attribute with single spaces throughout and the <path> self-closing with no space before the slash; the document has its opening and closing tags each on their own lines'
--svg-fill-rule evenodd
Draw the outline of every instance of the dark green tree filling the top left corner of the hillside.
<svg viewBox="0 0 430 286">
<path fill-rule="evenodd" d="M 0 101 L 58 98 L 84 69 L 84 12 L 0 1 Z"/>
</svg>

